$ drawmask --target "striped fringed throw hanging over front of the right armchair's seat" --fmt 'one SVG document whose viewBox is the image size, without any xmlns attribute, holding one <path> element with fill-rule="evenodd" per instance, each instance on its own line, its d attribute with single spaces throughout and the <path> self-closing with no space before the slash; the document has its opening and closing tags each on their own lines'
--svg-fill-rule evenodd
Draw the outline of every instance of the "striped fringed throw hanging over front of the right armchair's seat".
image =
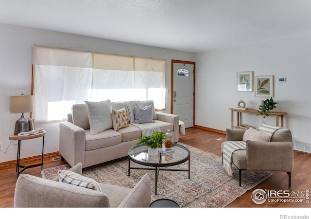
<svg viewBox="0 0 311 219">
<path fill-rule="evenodd" d="M 232 154 L 236 150 L 246 149 L 246 143 L 243 141 L 228 141 L 223 147 L 223 167 L 232 176 Z"/>
</svg>

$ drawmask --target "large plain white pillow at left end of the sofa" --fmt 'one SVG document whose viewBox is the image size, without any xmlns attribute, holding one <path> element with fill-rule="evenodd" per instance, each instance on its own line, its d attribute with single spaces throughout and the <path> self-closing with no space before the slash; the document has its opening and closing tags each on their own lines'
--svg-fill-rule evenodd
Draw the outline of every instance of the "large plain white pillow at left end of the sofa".
<svg viewBox="0 0 311 219">
<path fill-rule="evenodd" d="M 106 129 L 113 128 L 110 100 L 101 102 L 84 102 L 86 103 L 91 134 L 96 135 Z"/>
</svg>

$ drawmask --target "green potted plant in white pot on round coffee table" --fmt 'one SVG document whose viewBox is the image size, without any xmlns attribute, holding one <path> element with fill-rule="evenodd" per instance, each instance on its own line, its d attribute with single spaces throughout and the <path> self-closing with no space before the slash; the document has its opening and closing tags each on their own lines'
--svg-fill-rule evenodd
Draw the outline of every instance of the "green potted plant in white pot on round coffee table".
<svg viewBox="0 0 311 219">
<path fill-rule="evenodd" d="M 163 141 L 165 138 L 166 134 L 164 134 L 162 131 L 153 131 L 152 135 L 139 138 L 136 145 L 147 146 L 148 154 L 151 156 L 155 156 L 157 155 L 157 148 L 161 147 L 162 144 L 166 144 L 166 142 Z"/>
</svg>

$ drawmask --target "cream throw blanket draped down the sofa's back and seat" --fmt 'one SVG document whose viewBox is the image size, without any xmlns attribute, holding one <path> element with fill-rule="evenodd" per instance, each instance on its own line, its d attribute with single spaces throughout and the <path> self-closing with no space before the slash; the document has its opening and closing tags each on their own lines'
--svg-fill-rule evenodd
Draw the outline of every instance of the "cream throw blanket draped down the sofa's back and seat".
<svg viewBox="0 0 311 219">
<path fill-rule="evenodd" d="M 140 108 L 143 108 L 143 104 L 139 100 L 134 101 L 125 101 L 125 104 L 129 110 L 130 121 L 129 123 L 133 126 L 140 128 L 142 137 L 152 135 L 153 132 L 157 132 L 160 130 L 160 127 L 155 123 L 134 123 L 135 120 L 135 104 L 137 104 Z"/>
</svg>

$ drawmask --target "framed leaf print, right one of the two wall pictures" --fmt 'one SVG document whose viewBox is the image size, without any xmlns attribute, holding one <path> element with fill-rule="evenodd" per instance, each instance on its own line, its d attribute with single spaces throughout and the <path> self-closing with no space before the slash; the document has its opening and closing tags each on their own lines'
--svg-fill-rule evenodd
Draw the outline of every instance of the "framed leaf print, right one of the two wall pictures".
<svg viewBox="0 0 311 219">
<path fill-rule="evenodd" d="M 273 97 L 273 75 L 255 76 L 255 96 Z"/>
</svg>

